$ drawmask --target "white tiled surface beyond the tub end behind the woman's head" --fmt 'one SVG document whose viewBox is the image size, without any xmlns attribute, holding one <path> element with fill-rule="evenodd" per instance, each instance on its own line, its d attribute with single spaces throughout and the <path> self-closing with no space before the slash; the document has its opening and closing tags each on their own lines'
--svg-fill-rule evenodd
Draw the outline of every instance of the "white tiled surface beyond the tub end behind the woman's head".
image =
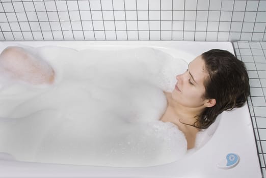
<svg viewBox="0 0 266 178">
<path fill-rule="evenodd" d="M 251 85 L 249 111 L 257 140 L 261 172 L 266 176 L 266 42 L 237 42 L 236 45 L 240 48 L 240 57 L 248 70 Z"/>
</svg>

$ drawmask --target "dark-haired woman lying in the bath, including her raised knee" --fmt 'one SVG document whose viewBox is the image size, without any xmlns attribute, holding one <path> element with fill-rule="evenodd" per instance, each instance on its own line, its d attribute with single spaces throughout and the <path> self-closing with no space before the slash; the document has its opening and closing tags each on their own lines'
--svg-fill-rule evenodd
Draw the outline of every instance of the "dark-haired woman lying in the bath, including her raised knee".
<svg viewBox="0 0 266 178">
<path fill-rule="evenodd" d="M 0 54 L 0 67 L 8 76 L 33 84 L 55 80 L 46 62 L 19 47 Z M 175 124 L 184 133 L 188 149 L 194 147 L 200 129 L 208 128 L 224 110 L 241 107 L 250 94 L 244 63 L 225 50 L 212 49 L 197 56 L 176 79 L 172 93 L 165 93 L 168 107 L 161 121 Z"/>
</svg>

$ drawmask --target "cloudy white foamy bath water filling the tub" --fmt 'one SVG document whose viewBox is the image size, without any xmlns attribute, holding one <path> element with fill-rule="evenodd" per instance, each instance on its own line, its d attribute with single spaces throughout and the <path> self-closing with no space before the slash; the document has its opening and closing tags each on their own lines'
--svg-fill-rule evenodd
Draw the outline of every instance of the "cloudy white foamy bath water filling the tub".
<svg viewBox="0 0 266 178">
<path fill-rule="evenodd" d="M 29 50 L 54 68 L 56 81 L 2 77 L 0 152 L 19 161 L 118 167 L 170 163 L 187 152 L 183 133 L 159 121 L 164 91 L 187 69 L 182 59 L 153 48 Z"/>
</svg>

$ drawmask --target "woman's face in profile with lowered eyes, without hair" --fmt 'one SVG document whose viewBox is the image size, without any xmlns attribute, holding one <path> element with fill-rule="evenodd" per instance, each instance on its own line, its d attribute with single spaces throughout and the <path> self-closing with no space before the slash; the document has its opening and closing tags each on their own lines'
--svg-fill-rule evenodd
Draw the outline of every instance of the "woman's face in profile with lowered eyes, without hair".
<svg viewBox="0 0 266 178">
<path fill-rule="evenodd" d="M 183 74 L 177 75 L 177 83 L 172 92 L 172 98 L 185 107 L 204 107 L 206 99 L 204 80 L 209 77 L 205 63 L 200 56 L 196 57 Z"/>
</svg>

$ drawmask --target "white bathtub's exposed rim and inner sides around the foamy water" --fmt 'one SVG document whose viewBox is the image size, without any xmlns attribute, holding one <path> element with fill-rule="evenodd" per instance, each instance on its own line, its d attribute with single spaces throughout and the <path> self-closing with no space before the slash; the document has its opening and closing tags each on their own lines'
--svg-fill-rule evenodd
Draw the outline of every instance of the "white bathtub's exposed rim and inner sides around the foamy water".
<svg viewBox="0 0 266 178">
<path fill-rule="evenodd" d="M 121 49 L 153 47 L 185 58 L 188 62 L 213 48 L 234 53 L 230 42 L 177 42 L 177 41 L 51 41 L 0 42 L 0 52 L 11 44 L 29 46 L 56 45 L 75 49 Z M 247 104 L 223 112 L 206 131 L 206 144 L 198 151 L 173 163 L 139 168 L 75 166 L 47 163 L 19 162 L 8 154 L 0 154 L 0 177 L 261 177 L 255 137 Z M 218 163 L 229 153 L 240 161 L 235 167 L 223 169 Z"/>
</svg>

